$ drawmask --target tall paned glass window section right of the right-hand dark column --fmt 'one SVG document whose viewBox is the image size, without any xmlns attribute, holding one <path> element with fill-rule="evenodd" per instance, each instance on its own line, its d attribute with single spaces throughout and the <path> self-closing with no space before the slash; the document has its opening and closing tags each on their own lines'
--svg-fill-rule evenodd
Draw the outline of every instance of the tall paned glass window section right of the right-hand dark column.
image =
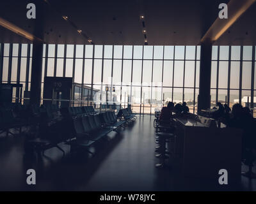
<svg viewBox="0 0 256 204">
<path fill-rule="evenodd" d="M 230 48 L 231 55 L 229 62 Z M 211 97 L 211 104 L 216 104 L 218 101 L 221 103 L 227 103 L 229 101 L 228 105 L 232 106 L 241 101 L 243 106 L 249 106 L 253 110 L 253 106 L 251 107 L 251 103 L 247 101 L 253 97 L 251 96 L 252 64 L 255 63 L 252 61 L 253 47 L 220 46 L 219 50 L 220 54 L 218 54 L 218 46 L 212 48 L 211 88 L 212 96 L 214 97 Z M 242 54 L 241 50 L 243 50 Z M 220 59 L 218 59 L 218 55 Z M 215 77 L 218 63 L 219 75 Z M 218 84 L 218 87 L 215 84 Z M 218 92 L 218 101 L 216 101 L 216 94 L 214 94 L 216 92 Z"/>
</svg>

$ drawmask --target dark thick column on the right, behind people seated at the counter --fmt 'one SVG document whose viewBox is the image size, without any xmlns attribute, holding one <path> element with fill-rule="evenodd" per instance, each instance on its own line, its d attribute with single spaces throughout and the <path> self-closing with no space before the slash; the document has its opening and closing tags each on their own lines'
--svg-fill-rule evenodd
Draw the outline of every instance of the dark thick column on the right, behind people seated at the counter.
<svg viewBox="0 0 256 204">
<path fill-rule="evenodd" d="M 211 58 L 212 43 L 202 43 L 200 58 L 198 110 L 211 108 Z"/>
</svg>

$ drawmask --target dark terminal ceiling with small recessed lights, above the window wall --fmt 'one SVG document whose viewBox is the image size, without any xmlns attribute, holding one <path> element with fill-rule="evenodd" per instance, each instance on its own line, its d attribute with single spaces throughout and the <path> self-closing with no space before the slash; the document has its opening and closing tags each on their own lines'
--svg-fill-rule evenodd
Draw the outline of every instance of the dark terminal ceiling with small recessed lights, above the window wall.
<svg viewBox="0 0 256 204">
<path fill-rule="evenodd" d="M 42 26 L 40 38 L 45 43 L 89 44 L 90 38 L 98 45 L 144 45 L 140 20 L 140 15 L 144 15 L 148 45 L 198 45 L 218 18 L 218 5 L 228 3 L 227 0 L 47 1 L 49 4 L 43 0 L 3 0 L 0 17 L 29 33 L 35 33 L 36 25 Z M 28 3 L 36 4 L 36 20 L 26 18 Z M 74 25 L 64 20 L 63 15 Z M 215 45 L 255 45 L 255 18 L 256 4 L 253 4 Z M 3 27 L 0 41 L 29 42 Z"/>
</svg>

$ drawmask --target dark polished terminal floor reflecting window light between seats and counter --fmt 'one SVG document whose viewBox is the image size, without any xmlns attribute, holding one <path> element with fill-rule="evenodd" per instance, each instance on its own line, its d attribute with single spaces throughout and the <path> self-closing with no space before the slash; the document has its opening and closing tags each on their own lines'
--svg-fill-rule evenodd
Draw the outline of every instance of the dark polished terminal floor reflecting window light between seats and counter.
<svg viewBox="0 0 256 204">
<path fill-rule="evenodd" d="M 241 177 L 241 184 L 220 186 L 216 181 L 184 178 L 172 168 L 155 168 L 154 116 L 138 117 L 120 133 L 110 133 L 97 145 L 95 156 L 65 157 L 58 149 L 42 159 L 24 157 L 24 136 L 0 138 L 1 191 L 251 191 L 256 180 Z M 36 171 L 36 185 L 26 184 L 26 171 Z M 243 167 L 246 168 L 246 167 Z"/>
</svg>

